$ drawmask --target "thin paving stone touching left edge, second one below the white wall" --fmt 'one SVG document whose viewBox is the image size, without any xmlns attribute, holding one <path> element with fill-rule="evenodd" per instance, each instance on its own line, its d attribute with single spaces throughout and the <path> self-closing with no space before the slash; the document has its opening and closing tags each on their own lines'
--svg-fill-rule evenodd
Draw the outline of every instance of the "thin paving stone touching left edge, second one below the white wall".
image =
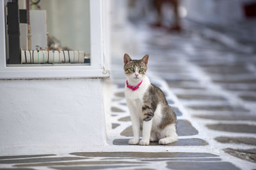
<svg viewBox="0 0 256 170">
<path fill-rule="evenodd" d="M 34 159 L 10 159 L 10 160 L 0 160 L 0 164 L 20 164 L 20 163 L 34 163 L 34 162 L 56 162 L 64 160 L 81 160 L 88 158 L 81 157 L 47 157 L 47 158 L 34 158 Z"/>
</svg>

